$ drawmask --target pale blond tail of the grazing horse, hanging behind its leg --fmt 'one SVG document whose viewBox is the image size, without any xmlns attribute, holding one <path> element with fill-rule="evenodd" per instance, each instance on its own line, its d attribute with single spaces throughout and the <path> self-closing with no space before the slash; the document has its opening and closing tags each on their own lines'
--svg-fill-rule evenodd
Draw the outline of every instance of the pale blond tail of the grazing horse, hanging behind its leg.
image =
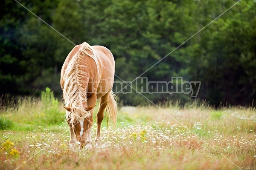
<svg viewBox="0 0 256 170">
<path fill-rule="evenodd" d="M 107 104 L 107 112 L 109 114 L 109 117 L 111 118 L 111 121 L 113 122 L 114 126 L 116 126 L 116 113 L 117 113 L 117 104 L 116 104 L 116 95 L 111 90 L 108 96 L 108 104 Z M 107 115 L 108 118 L 108 115 Z"/>
</svg>

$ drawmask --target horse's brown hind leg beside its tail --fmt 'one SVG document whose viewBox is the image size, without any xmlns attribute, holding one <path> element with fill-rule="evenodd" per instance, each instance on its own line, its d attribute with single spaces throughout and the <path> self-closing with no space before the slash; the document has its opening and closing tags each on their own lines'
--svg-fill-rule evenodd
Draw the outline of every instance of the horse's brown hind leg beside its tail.
<svg viewBox="0 0 256 170">
<path fill-rule="evenodd" d="M 99 110 L 97 112 L 97 133 L 95 137 L 96 146 L 98 146 L 100 142 L 100 127 L 104 118 L 104 110 L 108 104 L 108 95 L 109 94 L 107 93 L 106 95 L 99 98 Z"/>
</svg>

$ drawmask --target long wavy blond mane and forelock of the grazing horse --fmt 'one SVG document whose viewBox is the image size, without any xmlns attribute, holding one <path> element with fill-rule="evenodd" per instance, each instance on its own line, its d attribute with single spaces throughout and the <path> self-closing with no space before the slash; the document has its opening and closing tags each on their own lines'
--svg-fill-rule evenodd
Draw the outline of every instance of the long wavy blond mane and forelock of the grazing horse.
<svg viewBox="0 0 256 170">
<path fill-rule="evenodd" d="M 85 63 L 85 58 L 91 57 L 96 63 L 99 76 L 99 56 L 88 43 L 82 43 L 79 51 L 73 55 L 72 59 L 64 71 L 64 88 L 63 98 L 66 107 L 70 107 L 70 112 L 67 112 L 66 118 L 70 119 L 70 124 L 74 121 L 81 121 L 90 116 L 83 103 L 87 101 L 87 82 L 90 78 L 88 72 L 82 70 L 88 69 L 88 63 Z"/>
</svg>

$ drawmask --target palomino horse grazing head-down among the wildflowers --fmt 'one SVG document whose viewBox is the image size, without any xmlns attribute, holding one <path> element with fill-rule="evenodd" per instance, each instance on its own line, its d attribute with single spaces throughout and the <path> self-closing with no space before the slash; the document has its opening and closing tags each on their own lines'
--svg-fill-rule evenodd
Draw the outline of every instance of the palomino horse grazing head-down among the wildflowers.
<svg viewBox="0 0 256 170">
<path fill-rule="evenodd" d="M 68 54 L 61 69 L 61 88 L 67 123 L 70 126 L 70 145 L 76 141 L 80 147 L 92 147 L 91 129 L 93 107 L 99 98 L 97 112 L 96 144 L 100 141 L 100 127 L 107 109 L 113 124 L 116 124 L 117 104 L 113 87 L 115 61 L 104 46 L 82 43 Z"/>
</svg>

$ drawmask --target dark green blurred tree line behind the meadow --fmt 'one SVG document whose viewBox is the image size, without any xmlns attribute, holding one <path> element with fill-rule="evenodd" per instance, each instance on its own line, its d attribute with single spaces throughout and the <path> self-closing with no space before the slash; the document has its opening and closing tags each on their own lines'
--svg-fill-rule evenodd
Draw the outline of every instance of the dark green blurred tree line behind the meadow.
<svg viewBox="0 0 256 170">
<path fill-rule="evenodd" d="M 237 0 L 19 2 L 73 43 L 106 46 L 114 55 L 116 75 L 133 81 Z M 252 105 L 256 99 L 255 9 L 256 0 L 241 0 L 140 77 L 201 81 L 201 100 L 215 106 Z M 4 0 L 0 6 L 0 96 L 40 96 L 49 87 L 61 98 L 61 66 L 73 43 L 19 3 Z M 143 95 L 154 103 L 191 100 L 191 94 Z M 147 103 L 134 90 L 118 96 L 124 105 Z"/>
</svg>

